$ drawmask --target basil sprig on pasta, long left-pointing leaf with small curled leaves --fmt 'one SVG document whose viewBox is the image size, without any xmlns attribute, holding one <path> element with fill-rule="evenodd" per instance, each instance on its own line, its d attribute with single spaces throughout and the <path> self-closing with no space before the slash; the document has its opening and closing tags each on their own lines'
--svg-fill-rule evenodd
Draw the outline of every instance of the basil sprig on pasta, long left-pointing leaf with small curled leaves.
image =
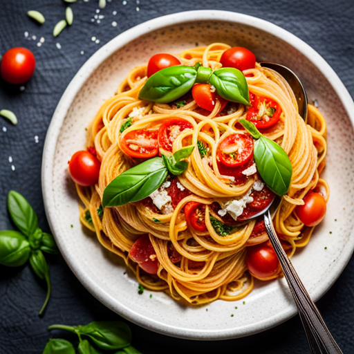
<svg viewBox="0 0 354 354">
<path fill-rule="evenodd" d="M 183 159 L 187 158 L 193 149 L 192 145 L 184 147 L 172 156 L 151 158 L 124 171 L 104 189 L 102 206 L 118 207 L 146 198 L 162 185 L 168 172 L 178 176 L 187 169 L 188 162 Z"/>
</svg>

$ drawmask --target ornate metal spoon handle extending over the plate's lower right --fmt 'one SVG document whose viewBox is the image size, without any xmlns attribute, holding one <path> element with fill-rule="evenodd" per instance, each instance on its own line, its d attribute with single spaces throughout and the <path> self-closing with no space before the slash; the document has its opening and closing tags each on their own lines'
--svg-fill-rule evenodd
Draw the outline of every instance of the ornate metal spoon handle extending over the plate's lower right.
<svg viewBox="0 0 354 354">
<path fill-rule="evenodd" d="M 295 299 L 297 310 L 299 310 L 299 315 L 305 329 L 311 353 L 342 353 L 324 323 L 324 319 L 319 313 L 317 306 L 311 300 L 310 295 L 308 295 L 303 283 L 299 279 L 299 276 L 292 266 L 288 255 L 283 250 L 277 234 L 275 233 L 269 211 L 264 214 L 264 223 L 270 242 L 272 243 L 274 251 L 280 261 L 281 268 L 283 268 L 286 281 L 288 281 L 288 286 L 292 292 L 292 296 Z"/>
</svg>

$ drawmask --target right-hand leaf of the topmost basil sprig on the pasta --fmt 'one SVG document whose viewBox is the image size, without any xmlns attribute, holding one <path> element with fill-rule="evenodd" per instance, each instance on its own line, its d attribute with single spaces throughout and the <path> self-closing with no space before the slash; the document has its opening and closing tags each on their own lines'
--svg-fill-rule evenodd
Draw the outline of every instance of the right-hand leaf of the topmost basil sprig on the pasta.
<svg viewBox="0 0 354 354">
<path fill-rule="evenodd" d="M 220 68 L 213 71 L 209 84 L 215 86 L 218 95 L 225 100 L 250 104 L 250 93 L 245 75 L 236 68 Z"/>
</svg>

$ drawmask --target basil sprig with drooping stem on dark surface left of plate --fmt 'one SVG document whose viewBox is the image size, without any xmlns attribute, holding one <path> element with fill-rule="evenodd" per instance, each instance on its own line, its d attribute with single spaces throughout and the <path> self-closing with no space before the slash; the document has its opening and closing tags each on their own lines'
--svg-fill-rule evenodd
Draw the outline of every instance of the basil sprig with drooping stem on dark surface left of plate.
<svg viewBox="0 0 354 354">
<path fill-rule="evenodd" d="M 50 297 L 49 268 L 42 251 L 57 254 L 57 245 L 51 234 L 42 232 L 38 227 L 37 214 L 21 194 L 9 192 L 8 211 L 21 232 L 0 231 L 0 264 L 18 267 L 30 261 L 35 274 L 47 284 L 46 300 L 39 311 L 41 315 Z"/>
</svg>

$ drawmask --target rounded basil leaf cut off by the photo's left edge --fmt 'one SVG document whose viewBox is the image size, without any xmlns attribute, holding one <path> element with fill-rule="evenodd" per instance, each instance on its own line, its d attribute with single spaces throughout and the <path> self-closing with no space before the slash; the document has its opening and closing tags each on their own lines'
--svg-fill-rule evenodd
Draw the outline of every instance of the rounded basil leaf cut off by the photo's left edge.
<svg viewBox="0 0 354 354">
<path fill-rule="evenodd" d="M 30 243 L 18 231 L 0 231 L 0 264 L 18 267 L 30 257 Z"/>
</svg>

